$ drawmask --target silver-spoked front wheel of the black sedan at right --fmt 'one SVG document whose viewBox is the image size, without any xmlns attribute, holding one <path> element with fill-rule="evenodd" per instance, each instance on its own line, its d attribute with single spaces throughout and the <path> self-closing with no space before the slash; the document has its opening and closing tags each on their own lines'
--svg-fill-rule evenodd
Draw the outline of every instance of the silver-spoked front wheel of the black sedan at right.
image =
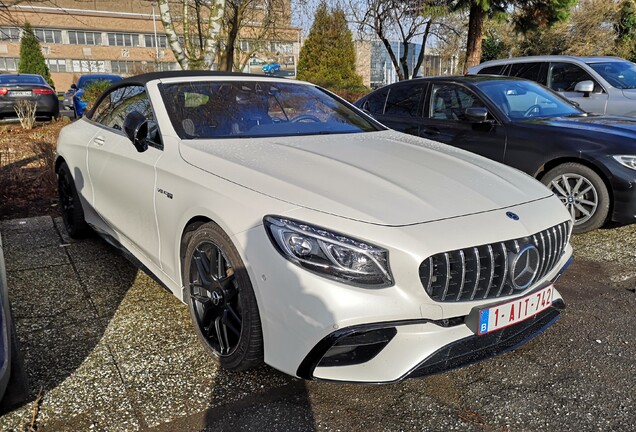
<svg viewBox="0 0 636 432">
<path fill-rule="evenodd" d="M 599 228 L 610 207 L 607 186 L 594 170 L 568 162 L 548 171 L 541 179 L 568 209 L 575 233 Z"/>
</svg>

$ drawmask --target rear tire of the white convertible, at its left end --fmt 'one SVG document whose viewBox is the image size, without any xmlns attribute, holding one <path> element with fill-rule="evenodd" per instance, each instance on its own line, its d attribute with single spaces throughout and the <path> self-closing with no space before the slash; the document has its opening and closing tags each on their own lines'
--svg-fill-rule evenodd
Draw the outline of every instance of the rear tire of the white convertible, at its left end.
<svg viewBox="0 0 636 432">
<path fill-rule="evenodd" d="M 75 181 L 65 162 L 57 170 L 57 191 L 62 211 L 64 227 L 74 239 L 86 237 L 91 229 L 84 220 L 84 210 L 80 201 Z"/>
</svg>

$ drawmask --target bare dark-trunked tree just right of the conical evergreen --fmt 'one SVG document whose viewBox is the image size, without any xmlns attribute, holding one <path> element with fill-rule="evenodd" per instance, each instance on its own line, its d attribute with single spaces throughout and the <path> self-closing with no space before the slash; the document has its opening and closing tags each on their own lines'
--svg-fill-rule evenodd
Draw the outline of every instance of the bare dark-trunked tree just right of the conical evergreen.
<svg viewBox="0 0 636 432">
<path fill-rule="evenodd" d="M 361 34 L 377 37 L 387 50 L 398 79 L 416 76 L 423 64 L 425 49 L 431 34 L 440 29 L 438 19 L 448 12 L 443 1 L 437 0 L 349 0 L 352 20 Z M 396 55 L 391 39 L 399 40 Z M 422 49 L 413 70 L 409 70 L 410 44 L 419 41 Z M 399 56 L 399 57 L 398 57 Z"/>
</svg>

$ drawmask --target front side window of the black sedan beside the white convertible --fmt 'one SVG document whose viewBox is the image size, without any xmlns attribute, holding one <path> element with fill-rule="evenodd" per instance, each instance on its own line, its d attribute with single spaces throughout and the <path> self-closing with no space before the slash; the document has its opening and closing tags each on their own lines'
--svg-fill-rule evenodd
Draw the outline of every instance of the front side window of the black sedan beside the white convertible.
<svg viewBox="0 0 636 432">
<path fill-rule="evenodd" d="M 473 92 L 455 84 L 433 84 L 429 118 L 465 120 L 466 108 L 485 108 Z"/>
</svg>

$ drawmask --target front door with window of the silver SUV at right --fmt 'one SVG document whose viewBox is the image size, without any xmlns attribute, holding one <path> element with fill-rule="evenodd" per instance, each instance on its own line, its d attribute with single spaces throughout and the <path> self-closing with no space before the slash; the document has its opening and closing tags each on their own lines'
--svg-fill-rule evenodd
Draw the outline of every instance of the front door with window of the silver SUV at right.
<svg viewBox="0 0 636 432">
<path fill-rule="evenodd" d="M 576 84 L 581 81 L 592 81 L 594 91 L 592 93 L 574 91 Z M 609 99 L 607 91 L 579 65 L 567 62 L 550 63 L 548 87 L 559 92 L 563 97 L 578 103 L 585 111 L 595 114 L 606 113 Z"/>
</svg>

